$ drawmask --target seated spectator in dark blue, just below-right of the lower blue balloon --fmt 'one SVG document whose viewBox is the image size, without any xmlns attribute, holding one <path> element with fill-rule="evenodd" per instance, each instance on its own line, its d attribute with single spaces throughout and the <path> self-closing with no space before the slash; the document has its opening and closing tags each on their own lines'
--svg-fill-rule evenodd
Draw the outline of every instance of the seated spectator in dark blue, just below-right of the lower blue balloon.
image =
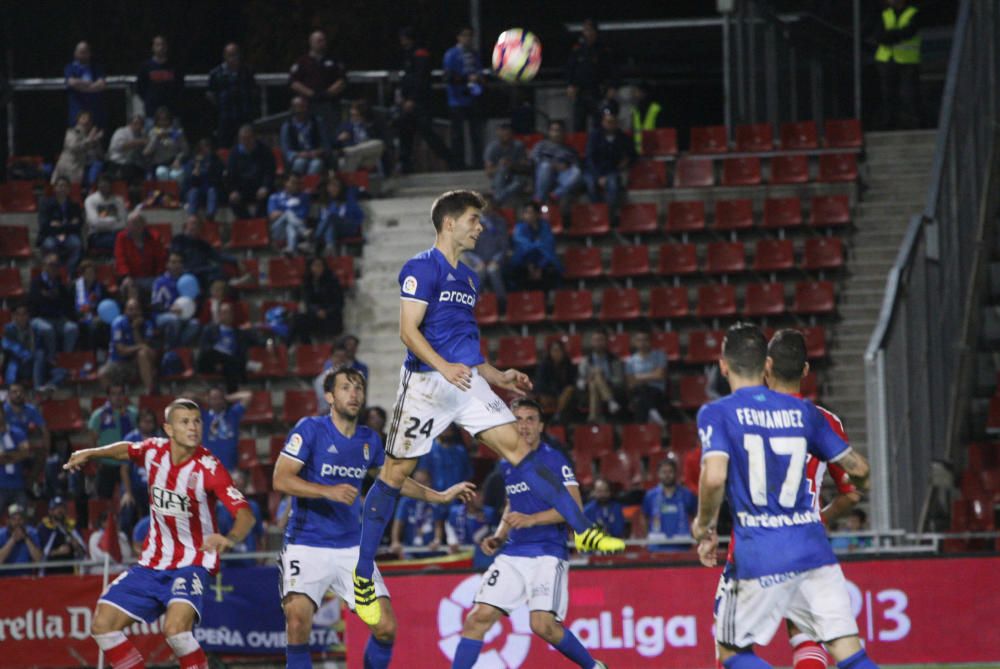
<svg viewBox="0 0 1000 669">
<path fill-rule="evenodd" d="M 125 302 L 125 313 L 111 324 L 108 362 L 101 368 L 105 383 L 131 383 L 138 377 L 144 392 L 154 394 L 158 358 L 152 343 L 155 335 L 153 321 L 143 315 L 139 300 L 130 298 Z"/>
</svg>

